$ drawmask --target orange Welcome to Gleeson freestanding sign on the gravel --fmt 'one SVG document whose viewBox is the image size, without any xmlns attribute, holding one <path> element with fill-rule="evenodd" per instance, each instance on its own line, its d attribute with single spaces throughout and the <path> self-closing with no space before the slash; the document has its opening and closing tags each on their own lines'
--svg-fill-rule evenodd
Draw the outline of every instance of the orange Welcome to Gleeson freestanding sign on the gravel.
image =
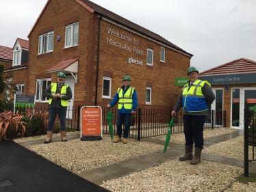
<svg viewBox="0 0 256 192">
<path fill-rule="evenodd" d="M 102 109 L 99 106 L 84 106 L 80 111 L 81 141 L 102 139 Z"/>
</svg>

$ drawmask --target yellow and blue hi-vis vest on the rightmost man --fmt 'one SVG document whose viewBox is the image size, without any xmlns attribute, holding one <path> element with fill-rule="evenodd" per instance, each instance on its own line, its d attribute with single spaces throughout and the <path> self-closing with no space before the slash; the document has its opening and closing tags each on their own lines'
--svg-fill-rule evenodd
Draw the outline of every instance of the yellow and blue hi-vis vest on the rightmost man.
<svg viewBox="0 0 256 192">
<path fill-rule="evenodd" d="M 190 87 L 187 84 L 184 85 L 182 90 L 182 109 L 187 109 L 188 112 L 201 112 L 207 110 L 207 101 L 202 93 L 202 87 L 207 83 L 211 86 L 208 81 L 196 80 Z"/>
</svg>

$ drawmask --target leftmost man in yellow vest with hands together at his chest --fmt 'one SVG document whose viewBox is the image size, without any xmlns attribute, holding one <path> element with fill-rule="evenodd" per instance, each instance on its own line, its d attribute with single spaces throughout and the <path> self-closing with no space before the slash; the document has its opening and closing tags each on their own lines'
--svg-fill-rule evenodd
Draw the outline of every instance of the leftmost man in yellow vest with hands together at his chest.
<svg viewBox="0 0 256 192">
<path fill-rule="evenodd" d="M 44 143 L 50 143 L 53 136 L 53 124 L 56 116 L 60 118 L 60 131 L 62 141 L 66 140 L 66 109 L 68 107 L 68 100 L 72 98 L 71 87 L 66 85 L 66 75 L 64 72 L 57 74 L 57 83 L 51 83 L 44 91 L 44 96 L 49 98 L 49 120 L 47 126 L 47 139 Z"/>
</svg>

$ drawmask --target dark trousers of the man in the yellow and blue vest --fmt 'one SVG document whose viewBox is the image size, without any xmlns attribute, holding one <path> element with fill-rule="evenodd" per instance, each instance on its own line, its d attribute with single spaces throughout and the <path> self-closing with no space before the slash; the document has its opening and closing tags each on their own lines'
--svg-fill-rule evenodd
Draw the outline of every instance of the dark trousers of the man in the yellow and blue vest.
<svg viewBox="0 0 256 192">
<path fill-rule="evenodd" d="M 183 115 L 185 144 L 203 148 L 203 124 L 206 115 Z"/>
</svg>

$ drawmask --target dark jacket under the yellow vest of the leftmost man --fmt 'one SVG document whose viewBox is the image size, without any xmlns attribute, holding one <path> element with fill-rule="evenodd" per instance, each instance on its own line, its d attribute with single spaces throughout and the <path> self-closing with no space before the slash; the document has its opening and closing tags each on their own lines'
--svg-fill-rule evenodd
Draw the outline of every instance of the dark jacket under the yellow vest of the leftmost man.
<svg viewBox="0 0 256 192">
<path fill-rule="evenodd" d="M 60 89 L 61 88 L 62 87 L 60 87 Z M 57 89 L 55 94 L 60 94 L 60 89 Z M 44 96 L 46 96 L 47 98 L 53 98 L 53 95 L 51 94 L 51 85 L 49 85 L 47 87 L 47 89 L 44 91 Z M 51 105 L 49 105 L 49 107 L 51 107 L 51 108 L 66 108 L 61 105 L 60 101 L 61 100 L 70 100 L 71 98 L 72 98 L 71 87 L 67 86 L 66 87 L 66 95 L 62 96 L 62 99 L 61 98 L 53 98 L 53 100 L 51 101 Z"/>
</svg>

